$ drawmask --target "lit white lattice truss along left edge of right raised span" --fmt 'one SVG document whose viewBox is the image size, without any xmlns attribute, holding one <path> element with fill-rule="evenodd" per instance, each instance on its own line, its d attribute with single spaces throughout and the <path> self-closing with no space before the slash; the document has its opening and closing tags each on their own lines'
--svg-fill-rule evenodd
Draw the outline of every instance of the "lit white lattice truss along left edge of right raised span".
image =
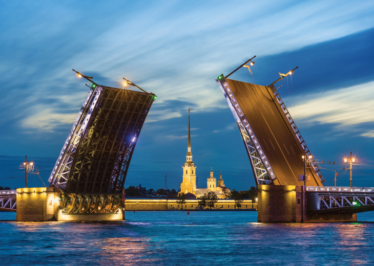
<svg viewBox="0 0 374 266">
<path fill-rule="evenodd" d="M 230 106 L 231 112 L 234 115 L 236 124 L 238 125 L 240 135 L 242 136 L 245 149 L 248 154 L 248 158 L 251 162 L 252 171 L 255 175 L 256 184 L 269 184 L 277 179 L 277 176 L 267 159 L 263 148 L 261 147 L 255 133 L 248 123 L 238 101 L 235 98 L 230 85 L 228 85 L 226 79 L 216 79 L 217 84 L 221 88 L 223 95 L 226 98 L 228 106 Z"/>
</svg>

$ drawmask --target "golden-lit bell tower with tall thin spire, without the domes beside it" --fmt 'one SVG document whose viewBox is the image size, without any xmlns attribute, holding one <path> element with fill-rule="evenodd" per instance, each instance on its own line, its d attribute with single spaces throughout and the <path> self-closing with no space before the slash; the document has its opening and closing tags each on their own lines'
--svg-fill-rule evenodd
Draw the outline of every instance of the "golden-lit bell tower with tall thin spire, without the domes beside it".
<svg viewBox="0 0 374 266">
<path fill-rule="evenodd" d="M 183 181 L 180 184 L 180 192 L 192 193 L 195 194 L 196 192 L 196 166 L 192 161 L 192 152 L 191 152 L 191 134 L 190 134 L 190 112 L 189 109 L 189 140 L 187 146 L 187 155 L 186 155 L 186 162 L 182 166 L 183 168 Z"/>
</svg>

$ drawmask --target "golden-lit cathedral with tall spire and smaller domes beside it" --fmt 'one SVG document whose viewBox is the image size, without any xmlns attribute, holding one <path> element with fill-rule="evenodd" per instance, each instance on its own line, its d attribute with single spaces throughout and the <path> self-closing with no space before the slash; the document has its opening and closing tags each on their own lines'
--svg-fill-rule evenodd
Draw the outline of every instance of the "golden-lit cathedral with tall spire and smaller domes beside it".
<svg viewBox="0 0 374 266">
<path fill-rule="evenodd" d="M 223 184 L 222 174 L 220 174 L 220 179 L 218 180 L 218 186 L 216 178 L 213 176 L 213 169 L 211 170 L 211 175 L 206 181 L 206 188 L 196 188 L 196 165 L 192 161 L 192 152 L 191 152 L 191 134 L 190 134 L 190 111 L 189 109 L 189 137 L 188 137 L 188 146 L 186 154 L 186 162 L 182 166 L 183 168 L 183 180 L 180 184 L 180 192 L 184 194 L 194 194 L 197 198 L 201 197 L 204 194 L 207 194 L 211 191 L 215 192 L 218 198 L 227 197 L 230 193 L 230 189 L 225 187 Z"/>
</svg>

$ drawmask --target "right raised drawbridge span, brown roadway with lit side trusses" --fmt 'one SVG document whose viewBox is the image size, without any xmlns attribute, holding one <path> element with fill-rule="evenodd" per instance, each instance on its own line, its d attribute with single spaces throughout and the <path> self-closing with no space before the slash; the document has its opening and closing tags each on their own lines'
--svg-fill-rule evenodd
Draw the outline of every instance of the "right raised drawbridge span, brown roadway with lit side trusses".
<svg viewBox="0 0 374 266">
<path fill-rule="evenodd" d="M 304 173 L 302 156 L 310 151 L 275 88 L 223 75 L 216 81 L 238 125 L 257 185 L 303 185 L 299 181 Z M 307 185 L 322 186 L 317 164 L 310 165 Z"/>
</svg>

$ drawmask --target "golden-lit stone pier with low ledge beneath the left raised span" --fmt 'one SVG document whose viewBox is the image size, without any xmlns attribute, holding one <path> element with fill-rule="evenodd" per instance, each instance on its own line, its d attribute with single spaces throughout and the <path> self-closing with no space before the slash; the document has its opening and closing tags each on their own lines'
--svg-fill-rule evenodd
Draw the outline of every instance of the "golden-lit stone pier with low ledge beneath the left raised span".
<svg viewBox="0 0 374 266">
<path fill-rule="evenodd" d="M 17 221 L 122 220 L 124 211 L 116 213 L 62 213 L 58 208 L 58 188 L 18 188 Z"/>
</svg>

